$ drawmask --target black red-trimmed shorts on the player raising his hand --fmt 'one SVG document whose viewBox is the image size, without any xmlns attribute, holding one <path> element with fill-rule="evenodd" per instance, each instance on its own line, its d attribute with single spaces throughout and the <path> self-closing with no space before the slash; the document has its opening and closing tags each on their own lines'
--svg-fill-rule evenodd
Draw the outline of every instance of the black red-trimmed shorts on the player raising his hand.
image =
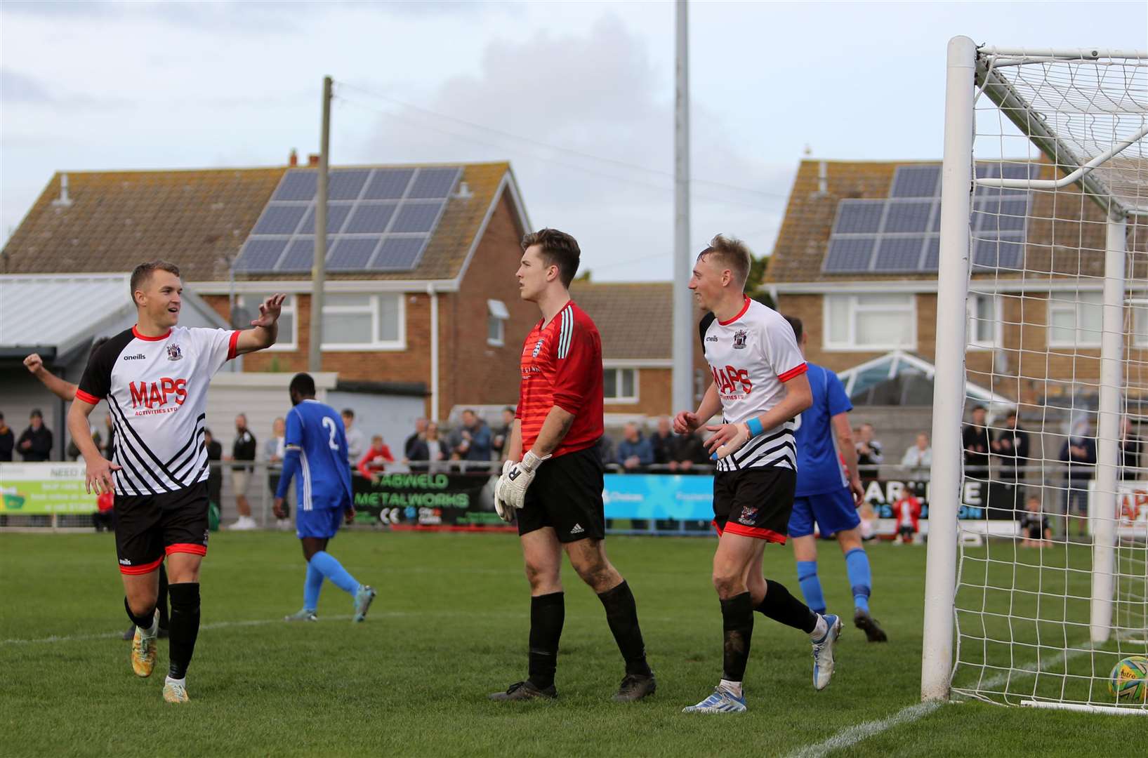
<svg viewBox="0 0 1148 758">
<path fill-rule="evenodd" d="M 172 553 L 208 553 L 208 483 L 157 495 L 116 495 L 121 573 L 150 573 Z"/>
</svg>

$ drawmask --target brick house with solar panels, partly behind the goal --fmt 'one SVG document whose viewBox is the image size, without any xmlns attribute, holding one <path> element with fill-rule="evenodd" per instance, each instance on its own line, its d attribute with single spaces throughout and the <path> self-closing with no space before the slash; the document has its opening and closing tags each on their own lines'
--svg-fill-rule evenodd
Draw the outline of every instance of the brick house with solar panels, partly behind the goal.
<svg viewBox="0 0 1148 758">
<path fill-rule="evenodd" d="M 933 360 L 945 338 L 936 334 L 940 170 L 939 162 L 801 162 L 765 289 L 805 323 L 809 360 L 839 373 L 897 351 Z M 977 172 L 1054 177 L 1047 161 L 984 163 Z M 1094 390 L 1104 211 L 1076 186 L 978 187 L 971 221 L 969 381 L 1021 403 Z M 1148 275 L 1146 237 L 1130 221 L 1133 287 Z M 1148 311 L 1130 305 L 1126 323 L 1126 354 L 1142 365 Z"/>
</svg>

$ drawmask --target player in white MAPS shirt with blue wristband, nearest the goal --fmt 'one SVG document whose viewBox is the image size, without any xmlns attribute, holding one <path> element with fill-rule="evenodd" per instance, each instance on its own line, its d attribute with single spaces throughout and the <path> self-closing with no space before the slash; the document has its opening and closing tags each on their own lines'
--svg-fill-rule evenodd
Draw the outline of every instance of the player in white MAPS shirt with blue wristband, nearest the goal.
<svg viewBox="0 0 1148 758">
<path fill-rule="evenodd" d="M 713 583 L 721 601 L 724 652 L 722 678 L 713 694 L 688 713 L 745 710 L 742 681 L 750 657 L 753 611 L 801 630 L 813 643 L 813 685 L 823 689 L 833 672 L 833 644 L 841 622 L 819 615 L 766 579 L 767 542 L 785 542 L 797 480 L 793 419 L 809 407 L 806 364 L 793 329 L 773 308 L 745 295 L 750 250 L 740 241 L 715 236 L 693 266 L 690 290 L 704 312 L 701 346 L 713 372 L 701 404 L 681 411 L 674 431 L 691 433 L 718 412 L 722 423 L 706 425 L 713 436 Z"/>
</svg>

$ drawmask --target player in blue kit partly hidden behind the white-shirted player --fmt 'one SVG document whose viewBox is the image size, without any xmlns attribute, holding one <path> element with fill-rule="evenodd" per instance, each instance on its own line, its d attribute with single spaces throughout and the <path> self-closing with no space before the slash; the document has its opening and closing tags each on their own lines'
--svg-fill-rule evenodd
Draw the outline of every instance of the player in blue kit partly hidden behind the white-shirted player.
<svg viewBox="0 0 1148 758">
<path fill-rule="evenodd" d="M 800 319 L 785 319 L 793 327 L 801 355 L 805 355 L 809 335 L 805 333 Z M 853 409 L 853 404 L 837 374 L 814 364 L 809 364 L 808 374 L 813 405 L 798 416 L 793 433 L 797 441 L 797 490 L 789 521 L 801 594 L 813 612 L 825 612 L 825 596 L 817 578 L 817 542 L 813 536 L 816 523 L 822 537 L 835 536 L 845 554 L 845 569 L 853 591 L 853 624 L 866 633 L 870 642 L 885 642 L 889 636 L 869 615 L 872 573 L 858 529 L 861 518 L 856 509 L 864 497 L 864 489 L 858 474 L 858 455 L 850 428 L 848 412 Z M 843 458 L 848 477 L 841 468 Z"/>
</svg>

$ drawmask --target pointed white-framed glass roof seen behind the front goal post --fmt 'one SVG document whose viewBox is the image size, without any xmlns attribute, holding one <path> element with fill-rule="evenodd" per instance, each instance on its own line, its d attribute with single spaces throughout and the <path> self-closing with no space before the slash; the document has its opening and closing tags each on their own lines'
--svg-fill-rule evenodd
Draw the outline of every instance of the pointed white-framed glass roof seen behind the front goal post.
<svg viewBox="0 0 1148 758">
<path fill-rule="evenodd" d="M 932 405 L 933 375 L 937 367 L 924 358 L 894 350 L 879 358 L 838 372 L 845 393 L 856 405 Z M 964 383 L 964 394 L 992 408 L 1015 408 L 1016 403 L 972 382 Z"/>
</svg>

